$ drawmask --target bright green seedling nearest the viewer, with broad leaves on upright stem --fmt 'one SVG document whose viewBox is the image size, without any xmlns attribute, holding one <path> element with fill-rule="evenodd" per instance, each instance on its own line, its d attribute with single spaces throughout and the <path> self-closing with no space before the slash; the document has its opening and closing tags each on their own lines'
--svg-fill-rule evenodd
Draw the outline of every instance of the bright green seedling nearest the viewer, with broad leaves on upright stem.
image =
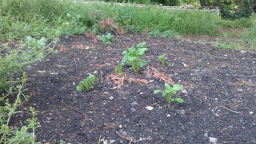
<svg viewBox="0 0 256 144">
<path fill-rule="evenodd" d="M 165 90 L 154 90 L 154 94 L 157 94 L 158 92 L 161 92 L 162 96 L 168 101 L 168 108 L 170 108 L 170 105 L 173 101 L 177 101 L 178 103 L 183 103 L 183 99 L 180 97 L 173 98 L 173 95 L 177 93 L 177 90 L 181 90 L 182 86 L 179 84 L 173 85 L 171 87 L 168 83 L 164 83 Z"/>
</svg>

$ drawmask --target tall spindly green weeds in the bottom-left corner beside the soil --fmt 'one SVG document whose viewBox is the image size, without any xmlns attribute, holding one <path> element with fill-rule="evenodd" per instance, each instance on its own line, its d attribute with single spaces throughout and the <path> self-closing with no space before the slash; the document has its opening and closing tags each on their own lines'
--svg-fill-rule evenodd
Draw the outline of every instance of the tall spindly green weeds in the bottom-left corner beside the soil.
<svg viewBox="0 0 256 144">
<path fill-rule="evenodd" d="M 29 110 L 31 112 L 32 118 L 26 120 L 28 123 L 27 126 L 22 126 L 19 130 L 19 127 L 11 128 L 10 121 L 12 116 L 15 113 L 20 113 L 20 111 L 16 111 L 19 106 L 21 106 L 25 101 L 28 101 L 30 96 L 24 95 L 22 92 L 25 90 L 22 89 L 26 82 L 26 73 L 23 73 L 21 79 L 21 84 L 17 85 L 17 87 L 11 87 L 8 90 L 8 94 L 2 95 L 0 99 L 0 103 L 4 103 L 5 106 L 0 106 L 0 143 L 35 143 L 35 129 L 39 126 L 36 126 L 36 112 L 35 109 L 30 107 Z M 13 103 L 9 101 L 7 98 L 10 94 L 17 94 L 16 99 Z M 24 100 L 22 100 L 22 97 Z M 6 98 L 6 99 L 5 99 Z M 31 133 L 28 131 L 32 130 Z"/>
</svg>

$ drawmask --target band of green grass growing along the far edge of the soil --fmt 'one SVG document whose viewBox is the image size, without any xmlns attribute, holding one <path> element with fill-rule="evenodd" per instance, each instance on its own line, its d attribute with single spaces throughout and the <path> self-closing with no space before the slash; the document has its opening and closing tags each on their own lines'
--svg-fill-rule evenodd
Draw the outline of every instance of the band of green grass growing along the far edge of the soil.
<svg viewBox="0 0 256 144">
<path fill-rule="evenodd" d="M 239 20 L 221 20 L 209 11 L 168 10 L 145 6 L 119 6 L 114 3 L 74 2 L 72 0 L 2 0 L 0 1 L 0 40 L 22 40 L 26 36 L 51 38 L 58 32 L 72 36 L 84 32 L 118 31 L 146 32 L 150 36 L 210 35 L 241 37 L 255 49 L 255 15 Z M 106 18 L 108 18 L 108 21 Z M 99 22 L 109 22 L 100 27 Z M 112 24 L 112 25 L 111 25 Z M 118 25 L 118 29 L 113 27 Z M 243 34 L 223 33 L 221 27 L 248 29 Z M 255 36 L 254 36 L 255 37 Z"/>
</svg>

